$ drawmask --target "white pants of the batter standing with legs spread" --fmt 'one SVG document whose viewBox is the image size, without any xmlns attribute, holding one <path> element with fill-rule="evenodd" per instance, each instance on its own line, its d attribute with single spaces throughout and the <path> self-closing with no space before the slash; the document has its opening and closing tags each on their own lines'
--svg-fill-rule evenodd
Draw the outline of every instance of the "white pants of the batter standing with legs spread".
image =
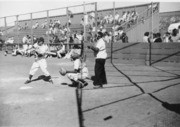
<svg viewBox="0 0 180 127">
<path fill-rule="evenodd" d="M 36 60 L 33 63 L 29 74 L 34 75 L 39 68 L 41 68 L 41 70 L 45 76 L 50 76 L 49 72 L 47 71 L 47 62 L 46 62 L 46 59 L 44 59 L 44 58 Z"/>
</svg>

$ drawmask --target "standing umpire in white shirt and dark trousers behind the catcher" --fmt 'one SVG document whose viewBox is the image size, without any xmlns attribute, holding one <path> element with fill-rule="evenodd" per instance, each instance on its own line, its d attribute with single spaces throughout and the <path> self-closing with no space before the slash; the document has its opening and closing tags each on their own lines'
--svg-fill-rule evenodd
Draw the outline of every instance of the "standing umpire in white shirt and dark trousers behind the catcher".
<svg viewBox="0 0 180 127">
<path fill-rule="evenodd" d="M 103 40 L 104 34 L 102 32 L 97 33 L 97 42 L 94 46 L 87 46 L 88 49 L 94 51 L 95 55 L 95 77 L 94 77 L 94 89 L 102 88 L 104 84 L 107 84 L 105 62 L 107 58 L 106 43 Z"/>
</svg>

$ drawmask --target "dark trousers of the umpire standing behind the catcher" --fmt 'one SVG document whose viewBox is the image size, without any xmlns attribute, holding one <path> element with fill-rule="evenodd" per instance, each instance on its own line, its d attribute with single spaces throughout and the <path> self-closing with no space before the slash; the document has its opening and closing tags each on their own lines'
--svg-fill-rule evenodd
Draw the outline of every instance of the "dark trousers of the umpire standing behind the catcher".
<svg viewBox="0 0 180 127">
<path fill-rule="evenodd" d="M 106 62 L 106 59 L 96 59 L 95 67 L 94 67 L 95 79 L 93 83 L 95 86 L 107 84 L 105 62 Z"/>
</svg>

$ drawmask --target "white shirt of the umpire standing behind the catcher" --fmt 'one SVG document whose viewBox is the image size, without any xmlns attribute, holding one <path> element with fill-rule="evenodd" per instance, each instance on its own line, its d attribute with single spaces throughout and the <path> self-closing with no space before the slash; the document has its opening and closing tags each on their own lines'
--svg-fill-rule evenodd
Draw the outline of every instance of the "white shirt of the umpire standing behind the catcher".
<svg viewBox="0 0 180 127">
<path fill-rule="evenodd" d="M 98 58 L 106 59 L 107 58 L 106 43 L 102 38 L 97 41 L 96 48 L 99 49 L 98 53 L 96 54 L 96 59 Z"/>
</svg>

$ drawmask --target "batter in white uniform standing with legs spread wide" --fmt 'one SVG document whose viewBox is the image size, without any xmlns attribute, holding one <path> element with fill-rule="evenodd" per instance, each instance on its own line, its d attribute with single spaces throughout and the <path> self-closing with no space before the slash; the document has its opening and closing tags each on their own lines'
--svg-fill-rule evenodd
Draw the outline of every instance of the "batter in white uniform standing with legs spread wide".
<svg viewBox="0 0 180 127">
<path fill-rule="evenodd" d="M 33 50 L 35 51 L 36 58 L 35 62 L 33 63 L 30 72 L 29 72 L 29 79 L 25 82 L 25 84 L 28 84 L 31 82 L 31 79 L 33 75 L 36 73 L 36 71 L 41 68 L 42 72 L 46 76 L 44 80 L 49 81 L 53 83 L 51 76 L 49 72 L 47 71 L 47 63 L 46 63 L 46 54 L 48 54 L 49 49 L 48 46 L 44 44 L 44 38 L 40 37 L 38 39 L 38 43 L 35 43 L 33 45 Z"/>
</svg>

